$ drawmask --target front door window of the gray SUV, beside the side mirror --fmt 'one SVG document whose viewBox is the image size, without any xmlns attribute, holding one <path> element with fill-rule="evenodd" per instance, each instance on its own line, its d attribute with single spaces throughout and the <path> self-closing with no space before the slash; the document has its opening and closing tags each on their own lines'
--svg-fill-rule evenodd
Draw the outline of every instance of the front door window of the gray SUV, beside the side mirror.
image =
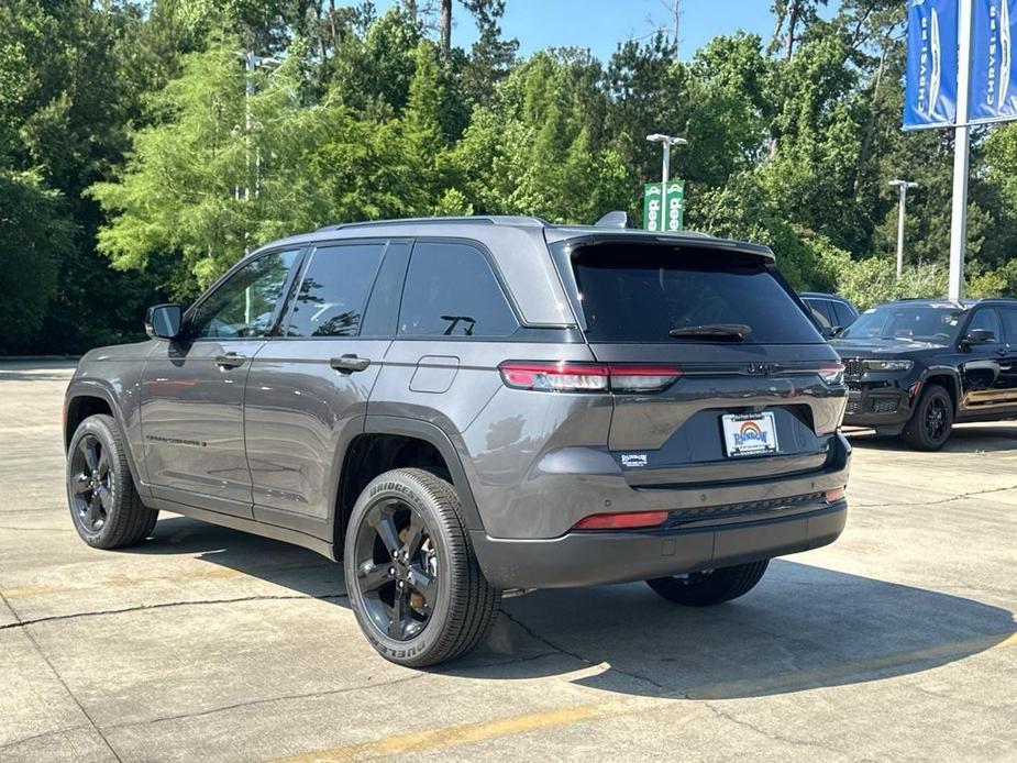
<svg viewBox="0 0 1017 763">
<path fill-rule="evenodd" d="M 191 339 L 245 339 L 272 330 L 276 303 L 299 251 L 273 252 L 247 263 L 201 302 L 189 319 Z"/>
</svg>

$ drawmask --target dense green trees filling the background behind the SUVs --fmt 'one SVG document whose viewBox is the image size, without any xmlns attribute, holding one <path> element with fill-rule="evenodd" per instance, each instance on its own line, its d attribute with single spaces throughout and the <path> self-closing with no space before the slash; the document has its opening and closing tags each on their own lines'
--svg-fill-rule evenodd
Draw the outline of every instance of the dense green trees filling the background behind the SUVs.
<svg viewBox="0 0 1017 763">
<path fill-rule="evenodd" d="M 904 3 L 781 0 L 770 40 L 679 60 L 656 34 L 601 62 L 520 58 L 510 1 L 0 5 L 0 352 L 129 338 L 146 302 L 324 223 L 638 218 L 654 132 L 688 140 L 687 224 L 770 244 L 795 286 L 862 306 L 944 290 L 952 144 L 899 129 Z M 900 280 L 898 177 L 919 184 Z M 976 132 L 972 294 L 1017 295 L 1015 177 L 1017 125 Z"/>
</svg>

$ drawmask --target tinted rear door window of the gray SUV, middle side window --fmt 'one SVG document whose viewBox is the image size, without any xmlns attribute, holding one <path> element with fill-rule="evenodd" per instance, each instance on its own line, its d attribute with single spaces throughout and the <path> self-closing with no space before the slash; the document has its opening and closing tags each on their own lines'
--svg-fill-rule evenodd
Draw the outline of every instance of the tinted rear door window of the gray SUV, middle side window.
<svg viewBox="0 0 1017 763">
<path fill-rule="evenodd" d="M 356 336 L 385 243 L 314 251 L 294 299 L 287 336 Z"/>
</svg>

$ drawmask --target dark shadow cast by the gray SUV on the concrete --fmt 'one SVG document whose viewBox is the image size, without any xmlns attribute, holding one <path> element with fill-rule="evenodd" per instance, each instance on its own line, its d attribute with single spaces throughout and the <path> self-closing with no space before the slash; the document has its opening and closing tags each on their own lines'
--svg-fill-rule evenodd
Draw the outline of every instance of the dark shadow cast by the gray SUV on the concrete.
<svg viewBox="0 0 1017 763">
<path fill-rule="evenodd" d="M 195 555 L 349 608 L 339 565 L 197 520 L 163 519 L 134 553 Z M 918 674 L 1013 642 L 1015 631 L 999 607 L 776 560 L 753 591 L 718 607 L 679 607 L 642 583 L 509 598 L 487 643 L 431 672 L 562 676 L 634 696 L 755 697 Z"/>
</svg>

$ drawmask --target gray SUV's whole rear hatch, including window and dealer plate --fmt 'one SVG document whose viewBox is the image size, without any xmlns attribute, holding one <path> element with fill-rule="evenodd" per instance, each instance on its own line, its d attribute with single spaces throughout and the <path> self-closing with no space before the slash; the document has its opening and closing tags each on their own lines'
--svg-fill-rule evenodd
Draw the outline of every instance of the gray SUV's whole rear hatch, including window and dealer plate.
<svg viewBox="0 0 1017 763">
<path fill-rule="evenodd" d="M 831 460 L 842 369 L 769 250 L 615 234 L 552 251 L 594 356 L 620 369 L 608 447 L 630 484 L 759 480 Z M 660 387 L 624 384 L 640 368 Z"/>
</svg>

